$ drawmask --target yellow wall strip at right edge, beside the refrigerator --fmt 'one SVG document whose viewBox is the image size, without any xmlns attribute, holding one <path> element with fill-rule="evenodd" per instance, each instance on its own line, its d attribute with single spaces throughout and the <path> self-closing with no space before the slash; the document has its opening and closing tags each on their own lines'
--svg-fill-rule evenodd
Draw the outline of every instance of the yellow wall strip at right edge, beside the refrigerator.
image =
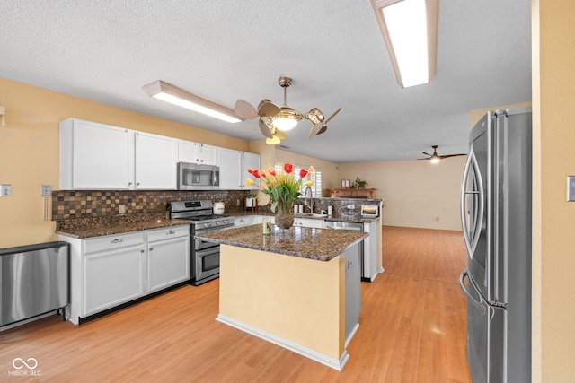
<svg viewBox="0 0 575 383">
<path fill-rule="evenodd" d="M 533 381 L 575 377 L 575 2 L 533 0 Z"/>
</svg>

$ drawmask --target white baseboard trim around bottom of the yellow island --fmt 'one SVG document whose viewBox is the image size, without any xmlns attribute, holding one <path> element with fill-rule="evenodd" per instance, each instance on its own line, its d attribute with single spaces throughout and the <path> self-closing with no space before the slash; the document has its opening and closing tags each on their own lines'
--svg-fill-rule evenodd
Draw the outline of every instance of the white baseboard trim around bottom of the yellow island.
<svg viewBox="0 0 575 383">
<path fill-rule="evenodd" d="M 262 331 L 259 328 L 246 325 L 245 323 L 240 322 L 239 320 L 235 320 L 233 318 L 228 318 L 222 314 L 217 314 L 216 320 L 218 322 L 224 323 L 227 326 L 232 326 L 232 327 L 237 328 L 238 330 L 242 330 L 244 333 L 248 333 L 250 335 L 257 336 L 257 337 L 259 337 L 265 341 L 268 341 L 272 344 L 277 344 L 280 347 L 283 347 L 289 351 L 293 351 L 294 353 L 299 353 L 300 355 L 303 355 L 306 358 L 309 358 L 313 361 L 320 362 L 323 365 L 331 367 L 334 370 L 338 370 L 338 371 L 343 370 L 343 367 L 345 366 L 345 364 L 349 360 L 349 353 L 346 350 L 343 350 L 343 353 L 341 354 L 341 358 L 339 360 L 337 360 L 337 359 L 334 359 L 334 358 L 329 357 L 327 355 L 324 355 L 323 353 L 318 353 L 318 352 L 316 352 L 310 348 L 304 347 L 300 344 L 290 342 L 286 339 L 280 338 L 279 336 L 270 334 L 266 331 Z M 352 332 L 352 334 L 349 336 L 349 340 L 351 340 L 351 337 L 353 337 L 353 335 L 355 334 L 356 331 L 357 331 L 357 328 L 355 328 L 354 331 Z M 347 343 L 346 343 L 346 346 L 347 346 Z"/>
</svg>

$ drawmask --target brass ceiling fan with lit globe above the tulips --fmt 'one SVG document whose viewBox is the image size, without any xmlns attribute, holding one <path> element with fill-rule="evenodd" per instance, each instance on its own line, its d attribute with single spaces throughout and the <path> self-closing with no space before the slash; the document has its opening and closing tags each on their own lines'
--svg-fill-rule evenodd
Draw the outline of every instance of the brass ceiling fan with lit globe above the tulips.
<svg viewBox="0 0 575 383">
<path fill-rule="evenodd" d="M 267 144 L 279 144 L 281 140 L 288 138 L 285 132 L 294 128 L 297 122 L 304 118 L 314 124 L 312 130 L 309 132 L 309 138 L 313 138 L 315 135 L 321 135 L 327 130 L 327 123 L 341 112 L 341 108 L 337 109 L 330 118 L 325 119 L 322 111 L 317 108 L 312 108 L 307 113 L 289 108 L 286 96 L 291 82 L 292 80 L 289 77 L 279 77 L 279 86 L 284 89 L 284 103 L 281 108 L 268 99 L 261 100 L 257 109 L 253 108 L 252 104 L 244 100 L 237 100 L 235 102 L 234 113 L 237 116 L 245 119 L 259 118 L 258 124 L 260 131 L 262 135 L 267 137 Z"/>
</svg>

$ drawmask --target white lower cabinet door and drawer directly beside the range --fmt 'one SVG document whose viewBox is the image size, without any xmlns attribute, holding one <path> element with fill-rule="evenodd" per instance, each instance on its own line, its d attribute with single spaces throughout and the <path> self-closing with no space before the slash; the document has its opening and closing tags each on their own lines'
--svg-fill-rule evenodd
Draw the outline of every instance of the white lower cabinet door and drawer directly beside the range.
<svg viewBox="0 0 575 383">
<path fill-rule="evenodd" d="M 147 231 L 148 292 L 190 279 L 190 228 Z"/>
</svg>

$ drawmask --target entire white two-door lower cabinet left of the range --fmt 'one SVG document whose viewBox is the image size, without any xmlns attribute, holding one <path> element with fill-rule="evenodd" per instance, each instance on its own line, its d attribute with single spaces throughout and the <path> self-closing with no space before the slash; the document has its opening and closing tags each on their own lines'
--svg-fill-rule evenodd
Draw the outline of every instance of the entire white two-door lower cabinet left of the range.
<svg viewBox="0 0 575 383">
<path fill-rule="evenodd" d="M 70 244 L 70 305 L 82 318 L 190 279 L 190 226 L 75 239 Z"/>
</svg>

